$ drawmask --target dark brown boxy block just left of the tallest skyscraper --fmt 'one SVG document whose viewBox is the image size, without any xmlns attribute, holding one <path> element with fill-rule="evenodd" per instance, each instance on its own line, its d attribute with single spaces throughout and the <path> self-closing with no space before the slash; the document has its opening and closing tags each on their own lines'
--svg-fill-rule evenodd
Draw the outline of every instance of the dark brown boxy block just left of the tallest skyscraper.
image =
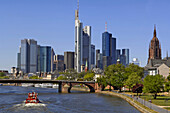
<svg viewBox="0 0 170 113">
<path fill-rule="evenodd" d="M 64 52 L 64 67 L 65 69 L 74 69 L 74 52 Z"/>
</svg>

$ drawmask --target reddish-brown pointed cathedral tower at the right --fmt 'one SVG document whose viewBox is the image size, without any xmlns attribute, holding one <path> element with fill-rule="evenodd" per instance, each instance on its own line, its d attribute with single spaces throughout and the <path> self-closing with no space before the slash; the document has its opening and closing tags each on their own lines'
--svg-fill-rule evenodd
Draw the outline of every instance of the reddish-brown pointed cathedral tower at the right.
<svg viewBox="0 0 170 113">
<path fill-rule="evenodd" d="M 159 45 L 159 40 L 156 37 L 156 26 L 154 26 L 154 33 L 153 38 L 149 45 L 149 58 L 148 63 L 150 59 L 162 59 L 161 57 L 161 46 Z"/>
</svg>

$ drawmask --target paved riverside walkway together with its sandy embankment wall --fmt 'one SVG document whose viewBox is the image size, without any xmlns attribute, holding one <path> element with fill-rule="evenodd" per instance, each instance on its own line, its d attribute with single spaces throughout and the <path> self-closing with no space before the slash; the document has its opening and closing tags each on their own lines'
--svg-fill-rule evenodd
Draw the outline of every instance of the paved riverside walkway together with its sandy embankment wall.
<svg viewBox="0 0 170 113">
<path fill-rule="evenodd" d="M 121 97 L 121 98 L 125 99 L 127 102 L 129 102 L 131 105 L 136 107 L 142 113 L 170 113 L 170 111 L 163 109 L 161 107 L 158 107 L 157 105 L 152 104 L 148 101 L 145 101 L 144 99 L 141 99 L 138 96 L 133 97 L 132 95 L 118 93 L 116 91 L 111 91 L 111 92 L 101 91 L 99 93 Z"/>
</svg>

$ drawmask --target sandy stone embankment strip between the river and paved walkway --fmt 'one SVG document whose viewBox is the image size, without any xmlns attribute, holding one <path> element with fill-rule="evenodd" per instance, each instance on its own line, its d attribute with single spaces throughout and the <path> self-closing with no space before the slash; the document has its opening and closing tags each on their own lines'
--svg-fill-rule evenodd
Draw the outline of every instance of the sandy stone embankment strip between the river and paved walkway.
<svg viewBox="0 0 170 113">
<path fill-rule="evenodd" d="M 131 99 L 130 97 L 122 95 L 122 94 L 119 94 L 119 93 L 109 92 L 109 91 L 101 91 L 101 92 L 97 92 L 97 93 L 105 94 L 105 95 L 111 95 L 111 96 L 118 96 L 118 97 L 126 100 L 129 104 L 134 106 L 136 109 L 138 109 L 142 113 L 158 113 L 158 112 L 156 112 L 156 111 L 142 105 L 141 103 Z"/>
</svg>

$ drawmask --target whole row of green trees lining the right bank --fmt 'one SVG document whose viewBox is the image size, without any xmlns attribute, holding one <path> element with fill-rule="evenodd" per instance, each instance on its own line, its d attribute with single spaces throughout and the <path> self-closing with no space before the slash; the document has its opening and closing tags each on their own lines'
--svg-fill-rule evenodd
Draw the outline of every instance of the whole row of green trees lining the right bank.
<svg viewBox="0 0 170 113">
<path fill-rule="evenodd" d="M 113 86 L 119 91 L 122 87 L 128 87 L 130 91 L 136 84 L 143 84 L 143 92 L 153 93 L 154 98 L 160 91 L 170 91 L 170 76 L 167 79 L 162 75 L 148 75 L 144 78 L 144 68 L 134 64 L 130 64 L 126 68 L 122 64 L 110 65 L 105 67 L 104 74 L 105 76 L 97 78 L 97 82 L 103 86 L 103 89 L 109 85 L 110 90 Z M 163 87 L 164 85 L 165 87 Z"/>
</svg>

